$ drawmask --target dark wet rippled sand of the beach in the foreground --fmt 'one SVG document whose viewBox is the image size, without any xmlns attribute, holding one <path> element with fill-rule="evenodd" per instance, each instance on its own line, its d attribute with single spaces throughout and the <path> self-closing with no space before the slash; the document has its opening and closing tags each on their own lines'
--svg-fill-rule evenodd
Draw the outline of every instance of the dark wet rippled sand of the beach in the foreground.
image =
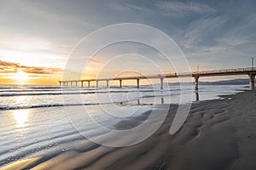
<svg viewBox="0 0 256 170">
<path fill-rule="evenodd" d="M 17 161 L 1 169 L 256 169 L 256 94 L 247 91 L 193 104 L 175 135 L 176 111 L 142 143 L 123 148 L 91 142 L 50 157 Z M 143 120 L 143 117 L 141 117 Z M 137 122 L 123 122 L 123 129 Z"/>
</svg>

